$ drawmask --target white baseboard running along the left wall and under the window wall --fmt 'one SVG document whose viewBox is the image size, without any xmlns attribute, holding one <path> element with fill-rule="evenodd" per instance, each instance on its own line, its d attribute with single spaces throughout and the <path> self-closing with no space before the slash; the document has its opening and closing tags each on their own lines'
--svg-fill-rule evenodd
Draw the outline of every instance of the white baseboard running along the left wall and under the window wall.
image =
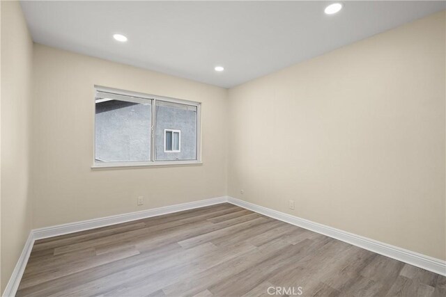
<svg viewBox="0 0 446 297">
<path fill-rule="evenodd" d="M 63 234 L 69 234 L 73 232 L 79 232 L 98 227 L 105 227 L 109 225 L 115 225 L 119 223 L 129 222 L 131 220 L 139 220 L 141 218 L 150 218 L 152 216 L 161 216 L 163 214 L 171 214 L 178 211 L 185 211 L 188 209 L 195 209 L 199 207 L 206 207 L 213 204 L 219 204 L 227 202 L 226 196 L 218 198 L 210 198 L 206 200 L 199 200 L 194 202 L 187 202 L 182 204 L 169 205 L 167 207 L 158 207 L 155 209 L 146 209 L 143 211 L 136 211 L 128 214 L 118 214 L 116 216 L 107 216 L 104 218 L 93 218 L 92 220 L 82 220 L 80 222 L 67 223 L 63 225 L 56 225 L 50 227 L 43 227 L 34 229 L 29 232 L 28 240 L 26 240 L 25 246 L 22 250 L 17 264 L 15 265 L 13 274 L 11 275 L 5 290 L 3 291 L 3 297 L 13 297 L 17 292 L 20 280 L 26 268 L 29 255 L 33 249 L 34 241 L 38 239 L 44 239 L 52 236 L 59 236 Z"/>
</svg>

